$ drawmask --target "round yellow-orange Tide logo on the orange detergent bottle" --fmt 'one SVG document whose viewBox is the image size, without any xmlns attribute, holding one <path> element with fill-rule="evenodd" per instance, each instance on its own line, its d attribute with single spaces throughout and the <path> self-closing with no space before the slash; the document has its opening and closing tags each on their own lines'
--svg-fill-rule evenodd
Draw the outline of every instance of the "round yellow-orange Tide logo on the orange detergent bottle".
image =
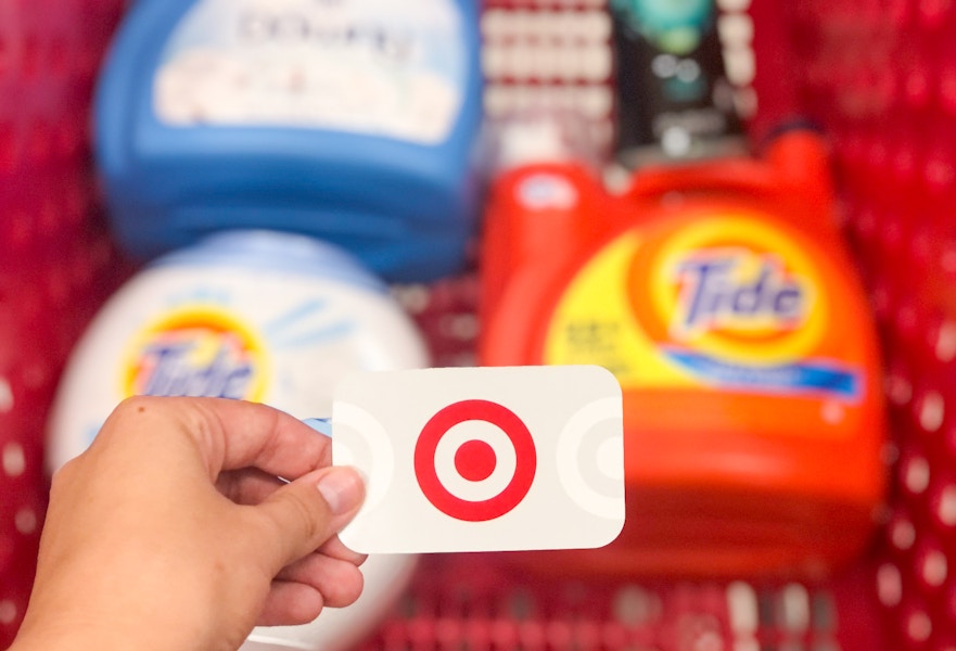
<svg viewBox="0 0 956 651">
<path fill-rule="evenodd" d="M 718 215 L 654 233 L 636 256 L 629 298 L 663 347 L 741 363 L 786 363 L 812 354 L 828 306 L 818 266 L 766 219 Z"/>
</svg>

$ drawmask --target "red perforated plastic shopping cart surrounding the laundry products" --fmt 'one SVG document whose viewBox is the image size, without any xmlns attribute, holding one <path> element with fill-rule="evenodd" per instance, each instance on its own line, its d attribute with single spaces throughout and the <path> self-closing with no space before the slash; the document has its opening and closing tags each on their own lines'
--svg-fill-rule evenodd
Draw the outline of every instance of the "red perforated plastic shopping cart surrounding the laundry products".
<svg viewBox="0 0 956 651">
<path fill-rule="evenodd" d="M 594 2 L 532 4 L 586 8 Z M 367 649 L 956 650 L 956 3 L 725 0 L 749 10 L 756 138 L 819 124 L 884 344 L 891 497 L 825 583 L 541 578 L 425 558 Z M 20 622 L 71 345 L 127 272 L 95 202 L 88 107 L 120 0 L 0 0 L 0 648 Z M 474 360 L 476 278 L 398 294 L 436 363 Z M 834 523 L 839 524 L 839 523 Z"/>
</svg>

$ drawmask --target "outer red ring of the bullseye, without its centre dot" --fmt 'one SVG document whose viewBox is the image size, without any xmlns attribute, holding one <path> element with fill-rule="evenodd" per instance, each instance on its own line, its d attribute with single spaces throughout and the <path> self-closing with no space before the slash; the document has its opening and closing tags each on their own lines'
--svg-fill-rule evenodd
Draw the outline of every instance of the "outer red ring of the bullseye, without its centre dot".
<svg viewBox="0 0 956 651">
<path fill-rule="evenodd" d="M 499 427 L 514 446 L 514 475 L 498 495 L 482 501 L 470 501 L 452 495 L 438 478 L 435 452 L 438 442 L 455 425 L 480 420 Z M 415 475 L 422 493 L 432 505 L 456 520 L 485 522 L 500 518 L 521 503 L 534 483 L 537 452 L 527 425 L 518 416 L 490 400 L 461 400 L 448 405 L 422 427 L 415 446 Z"/>
</svg>

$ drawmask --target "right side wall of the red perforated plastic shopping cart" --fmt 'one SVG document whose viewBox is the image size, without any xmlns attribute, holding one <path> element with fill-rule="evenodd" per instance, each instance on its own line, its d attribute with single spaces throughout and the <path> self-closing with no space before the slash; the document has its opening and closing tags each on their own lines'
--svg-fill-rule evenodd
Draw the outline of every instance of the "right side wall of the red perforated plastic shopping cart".
<svg viewBox="0 0 956 651">
<path fill-rule="evenodd" d="M 894 493 L 871 584 L 891 649 L 956 649 L 956 4 L 802 2 L 804 102 L 832 133 L 888 360 Z"/>
</svg>

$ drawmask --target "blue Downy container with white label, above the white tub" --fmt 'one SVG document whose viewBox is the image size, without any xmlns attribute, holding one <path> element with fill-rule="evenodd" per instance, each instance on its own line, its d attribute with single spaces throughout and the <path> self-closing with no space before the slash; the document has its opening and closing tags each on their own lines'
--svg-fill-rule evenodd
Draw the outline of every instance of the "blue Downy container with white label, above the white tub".
<svg viewBox="0 0 956 651">
<path fill-rule="evenodd" d="M 141 259 L 266 228 L 386 280 L 457 270 L 473 234 L 476 0 L 139 0 L 107 56 L 95 149 Z"/>
</svg>

